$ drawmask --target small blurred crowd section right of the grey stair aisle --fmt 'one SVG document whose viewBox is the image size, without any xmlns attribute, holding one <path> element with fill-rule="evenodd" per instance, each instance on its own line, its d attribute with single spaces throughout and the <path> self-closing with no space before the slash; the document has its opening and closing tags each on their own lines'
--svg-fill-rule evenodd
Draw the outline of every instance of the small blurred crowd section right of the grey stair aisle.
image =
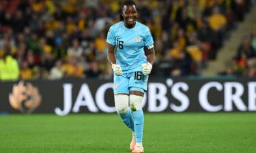
<svg viewBox="0 0 256 153">
<path fill-rule="evenodd" d="M 227 70 L 219 75 L 256 76 L 256 22 L 251 35 L 243 37 Z"/>
</svg>

